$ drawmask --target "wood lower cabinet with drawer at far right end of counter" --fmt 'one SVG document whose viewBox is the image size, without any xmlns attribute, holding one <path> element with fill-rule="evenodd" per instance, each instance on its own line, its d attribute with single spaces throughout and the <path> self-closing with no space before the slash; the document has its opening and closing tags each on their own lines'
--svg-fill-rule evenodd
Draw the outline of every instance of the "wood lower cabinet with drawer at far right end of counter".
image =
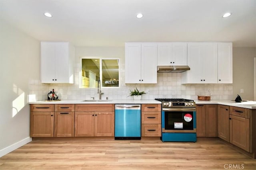
<svg viewBox="0 0 256 170">
<path fill-rule="evenodd" d="M 252 152 L 250 109 L 230 106 L 230 143 Z"/>
</svg>

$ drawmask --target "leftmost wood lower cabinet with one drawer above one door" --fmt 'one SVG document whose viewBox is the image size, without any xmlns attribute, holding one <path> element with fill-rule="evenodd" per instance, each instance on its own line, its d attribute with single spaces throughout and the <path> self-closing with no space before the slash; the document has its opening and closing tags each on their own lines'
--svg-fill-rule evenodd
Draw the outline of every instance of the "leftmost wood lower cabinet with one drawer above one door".
<svg viewBox="0 0 256 170">
<path fill-rule="evenodd" d="M 30 137 L 53 137 L 54 105 L 30 105 Z"/>
</svg>

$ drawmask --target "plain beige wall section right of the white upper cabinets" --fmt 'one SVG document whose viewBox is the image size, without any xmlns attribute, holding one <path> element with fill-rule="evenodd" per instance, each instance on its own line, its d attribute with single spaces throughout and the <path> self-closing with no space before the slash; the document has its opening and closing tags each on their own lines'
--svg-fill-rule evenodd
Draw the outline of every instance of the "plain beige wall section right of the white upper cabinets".
<svg viewBox="0 0 256 170">
<path fill-rule="evenodd" d="M 243 100 L 254 100 L 254 57 L 256 47 L 233 47 L 233 99 L 238 94 Z"/>
</svg>

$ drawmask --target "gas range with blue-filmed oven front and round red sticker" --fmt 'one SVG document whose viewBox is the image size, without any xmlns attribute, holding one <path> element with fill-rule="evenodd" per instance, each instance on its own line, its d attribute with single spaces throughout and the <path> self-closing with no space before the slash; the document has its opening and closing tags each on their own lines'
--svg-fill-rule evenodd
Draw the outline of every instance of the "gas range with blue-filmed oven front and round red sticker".
<svg viewBox="0 0 256 170">
<path fill-rule="evenodd" d="M 196 142 L 196 104 L 187 99 L 162 102 L 162 141 Z"/>
</svg>

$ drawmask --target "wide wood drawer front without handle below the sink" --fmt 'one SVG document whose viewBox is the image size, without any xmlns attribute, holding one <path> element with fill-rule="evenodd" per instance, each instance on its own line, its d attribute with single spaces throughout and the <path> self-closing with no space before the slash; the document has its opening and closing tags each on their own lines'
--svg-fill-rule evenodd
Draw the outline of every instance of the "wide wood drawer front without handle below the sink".
<svg viewBox="0 0 256 170">
<path fill-rule="evenodd" d="M 76 104 L 75 111 L 114 111 L 114 104 Z"/>
</svg>

